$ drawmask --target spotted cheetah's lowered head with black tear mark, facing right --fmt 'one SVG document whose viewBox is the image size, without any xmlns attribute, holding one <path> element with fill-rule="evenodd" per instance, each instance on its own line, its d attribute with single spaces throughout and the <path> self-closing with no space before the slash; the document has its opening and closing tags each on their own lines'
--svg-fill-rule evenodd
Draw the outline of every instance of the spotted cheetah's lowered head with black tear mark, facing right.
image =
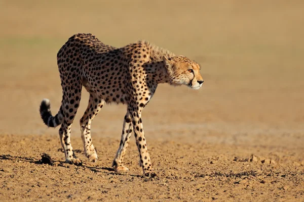
<svg viewBox="0 0 304 202">
<path fill-rule="evenodd" d="M 170 59 L 164 56 L 163 62 L 171 85 L 186 85 L 195 90 L 202 86 L 204 80 L 200 73 L 200 66 L 196 62 L 184 56 L 175 56 Z"/>
</svg>

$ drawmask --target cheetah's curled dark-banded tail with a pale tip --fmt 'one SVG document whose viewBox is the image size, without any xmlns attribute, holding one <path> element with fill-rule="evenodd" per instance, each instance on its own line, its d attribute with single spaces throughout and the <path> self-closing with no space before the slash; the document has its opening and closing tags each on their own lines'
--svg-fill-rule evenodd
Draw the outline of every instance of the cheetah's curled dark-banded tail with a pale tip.
<svg viewBox="0 0 304 202">
<path fill-rule="evenodd" d="M 60 125 L 63 121 L 63 116 L 58 112 L 55 116 L 52 116 L 51 113 L 51 104 L 49 99 L 43 99 L 41 104 L 40 104 L 40 115 L 43 120 L 43 122 L 48 126 L 48 127 L 57 127 Z"/>
</svg>

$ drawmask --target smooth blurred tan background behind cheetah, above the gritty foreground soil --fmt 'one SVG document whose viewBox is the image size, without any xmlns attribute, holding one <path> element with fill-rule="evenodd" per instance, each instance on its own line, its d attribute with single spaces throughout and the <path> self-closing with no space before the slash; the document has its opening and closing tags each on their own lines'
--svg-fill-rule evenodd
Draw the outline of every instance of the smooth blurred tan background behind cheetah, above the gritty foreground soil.
<svg viewBox="0 0 304 202">
<path fill-rule="evenodd" d="M 201 64 L 204 86 L 159 85 L 143 111 L 148 139 L 302 146 L 303 1 L 0 1 L 0 133 L 58 134 L 39 115 L 61 102 L 56 54 L 75 33 L 116 47 L 146 39 Z M 80 137 L 81 107 L 72 127 Z M 92 134 L 120 138 L 125 106 Z M 252 138 L 254 141 L 252 142 Z"/>
</svg>

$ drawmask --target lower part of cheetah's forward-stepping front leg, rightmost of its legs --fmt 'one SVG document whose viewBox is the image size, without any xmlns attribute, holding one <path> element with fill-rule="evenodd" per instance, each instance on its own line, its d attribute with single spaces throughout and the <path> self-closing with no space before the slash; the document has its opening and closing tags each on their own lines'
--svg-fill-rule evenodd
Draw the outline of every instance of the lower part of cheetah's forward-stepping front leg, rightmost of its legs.
<svg viewBox="0 0 304 202">
<path fill-rule="evenodd" d="M 139 108 L 139 107 L 136 107 Z M 133 108 L 133 109 L 136 109 Z M 147 144 L 143 132 L 141 111 L 133 111 L 131 113 L 134 136 L 136 139 L 136 145 L 139 151 L 139 166 L 143 170 L 143 175 L 146 177 L 155 177 L 156 173 L 153 172 L 150 156 L 148 154 Z"/>
</svg>

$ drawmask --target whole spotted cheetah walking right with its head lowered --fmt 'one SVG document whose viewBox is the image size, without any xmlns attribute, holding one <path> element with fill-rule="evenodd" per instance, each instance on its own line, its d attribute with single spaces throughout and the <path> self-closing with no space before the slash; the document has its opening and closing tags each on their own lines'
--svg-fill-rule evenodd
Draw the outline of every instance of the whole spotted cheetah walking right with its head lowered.
<svg viewBox="0 0 304 202">
<path fill-rule="evenodd" d="M 61 78 L 62 101 L 55 116 L 50 102 L 43 99 L 40 114 L 48 127 L 60 126 L 59 137 L 65 162 L 81 164 L 73 153 L 70 130 L 81 100 L 82 86 L 90 93 L 88 107 L 80 119 L 84 151 L 90 161 L 97 161 L 91 138 L 91 122 L 103 105 L 126 104 L 120 145 L 113 160 L 115 172 L 125 172 L 123 159 L 134 132 L 143 176 L 155 177 L 147 150 L 141 119 L 142 109 L 154 95 L 158 84 L 186 85 L 199 89 L 204 80 L 200 65 L 184 56 L 148 41 L 140 40 L 121 48 L 102 43 L 92 34 L 75 34 L 60 48 L 57 64 Z"/>
</svg>

